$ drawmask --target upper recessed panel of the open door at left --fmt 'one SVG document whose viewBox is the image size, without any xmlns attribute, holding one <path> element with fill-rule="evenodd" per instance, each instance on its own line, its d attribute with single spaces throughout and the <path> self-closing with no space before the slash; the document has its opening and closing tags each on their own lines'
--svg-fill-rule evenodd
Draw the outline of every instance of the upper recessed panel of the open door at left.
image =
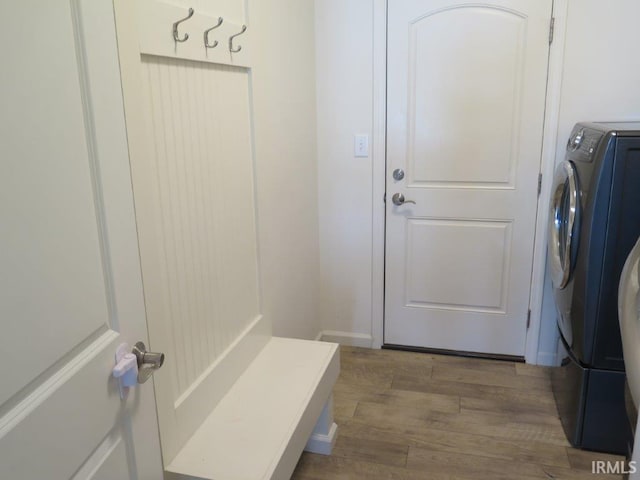
<svg viewBox="0 0 640 480">
<path fill-rule="evenodd" d="M 87 161 L 93 147 L 87 143 L 92 133 L 85 133 L 82 79 L 78 73 L 53 73 L 46 82 L 41 78 L 43 70 L 78 72 L 75 27 L 68 5 L 51 7 L 48 14 L 61 24 L 51 48 L 62 53 L 38 54 L 35 45 L 25 46 L 2 69 L 2 86 L 12 92 L 5 95 L 12 98 L 3 102 L 1 127 L 6 153 L 0 189 L 0 289 L 7 301 L 0 302 L 0 316 L 11 321 L 0 336 L 0 351 L 6 359 L 18 359 L 30 345 L 39 354 L 24 356 L 21 369 L 13 361 L 0 362 L 0 403 L 83 341 L 104 334 L 110 321 Z M 37 111 L 43 113 L 34 115 L 29 103 L 16 101 L 30 98 L 38 100 Z M 56 112 L 65 112 L 65 121 L 54 120 Z M 73 175 L 51 180 L 65 172 Z M 78 221 L 87 218 L 91 221 Z M 57 312 L 57 318 L 43 329 L 40 322 L 49 312 Z"/>
</svg>

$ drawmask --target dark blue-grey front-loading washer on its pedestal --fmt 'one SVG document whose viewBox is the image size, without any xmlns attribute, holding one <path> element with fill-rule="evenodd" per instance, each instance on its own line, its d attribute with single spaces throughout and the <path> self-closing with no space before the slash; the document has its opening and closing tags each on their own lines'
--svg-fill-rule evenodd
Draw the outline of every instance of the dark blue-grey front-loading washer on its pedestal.
<svg viewBox="0 0 640 480">
<path fill-rule="evenodd" d="M 551 375 L 558 413 L 572 445 L 626 453 L 617 298 L 624 261 L 640 236 L 640 122 L 576 124 L 550 206 L 548 259 L 562 352 Z"/>
</svg>

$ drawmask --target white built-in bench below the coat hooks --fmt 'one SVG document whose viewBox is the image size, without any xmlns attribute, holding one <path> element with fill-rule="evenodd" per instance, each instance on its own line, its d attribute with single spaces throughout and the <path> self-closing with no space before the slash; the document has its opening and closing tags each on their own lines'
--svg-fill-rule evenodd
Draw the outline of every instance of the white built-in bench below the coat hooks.
<svg viewBox="0 0 640 480">
<path fill-rule="evenodd" d="M 339 370 L 336 344 L 270 338 L 165 468 L 166 478 L 289 479 L 318 420 L 326 426 L 327 412 L 330 428 L 320 437 L 329 443 L 323 453 L 331 449 L 330 398 Z"/>
</svg>

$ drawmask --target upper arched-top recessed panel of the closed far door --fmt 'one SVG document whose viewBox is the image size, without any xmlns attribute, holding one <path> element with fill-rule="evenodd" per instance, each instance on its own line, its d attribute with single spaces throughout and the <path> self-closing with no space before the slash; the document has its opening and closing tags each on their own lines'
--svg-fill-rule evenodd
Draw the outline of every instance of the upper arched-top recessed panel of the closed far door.
<svg viewBox="0 0 640 480">
<path fill-rule="evenodd" d="M 410 185 L 515 188 L 526 27 L 521 13 L 487 6 L 411 22 Z M 505 141 L 487 141 L 492 138 Z"/>
</svg>

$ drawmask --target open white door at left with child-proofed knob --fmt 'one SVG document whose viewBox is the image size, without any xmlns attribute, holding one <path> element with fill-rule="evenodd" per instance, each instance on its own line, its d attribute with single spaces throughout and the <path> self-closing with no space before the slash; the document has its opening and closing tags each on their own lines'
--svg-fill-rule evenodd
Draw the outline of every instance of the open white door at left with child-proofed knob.
<svg viewBox="0 0 640 480">
<path fill-rule="evenodd" d="M 0 478 L 162 478 L 113 5 L 2 2 Z"/>
</svg>

